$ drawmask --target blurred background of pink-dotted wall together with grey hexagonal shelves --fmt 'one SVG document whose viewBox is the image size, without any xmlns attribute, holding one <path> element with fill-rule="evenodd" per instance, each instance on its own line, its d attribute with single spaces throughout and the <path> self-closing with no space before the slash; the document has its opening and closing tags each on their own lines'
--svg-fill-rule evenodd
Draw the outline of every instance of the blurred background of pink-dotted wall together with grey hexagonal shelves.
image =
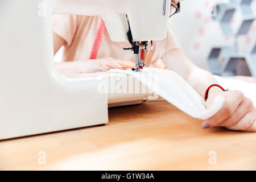
<svg viewBox="0 0 256 182">
<path fill-rule="evenodd" d="M 256 77 L 256 0 L 181 0 L 180 4 L 170 28 L 197 66 L 221 76 Z M 62 49 L 55 61 L 61 56 Z"/>
</svg>

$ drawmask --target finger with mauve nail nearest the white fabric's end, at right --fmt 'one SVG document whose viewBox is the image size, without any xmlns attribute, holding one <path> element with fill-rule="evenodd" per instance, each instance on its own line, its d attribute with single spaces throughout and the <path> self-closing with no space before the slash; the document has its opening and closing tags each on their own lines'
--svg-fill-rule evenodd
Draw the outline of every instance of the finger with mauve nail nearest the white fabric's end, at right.
<svg viewBox="0 0 256 182">
<path fill-rule="evenodd" d="M 218 126 L 222 121 L 228 119 L 236 111 L 237 107 L 241 104 L 245 97 L 240 91 L 226 92 L 226 100 L 221 109 L 213 115 L 213 117 L 203 122 L 203 127 Z"/>
</svg>

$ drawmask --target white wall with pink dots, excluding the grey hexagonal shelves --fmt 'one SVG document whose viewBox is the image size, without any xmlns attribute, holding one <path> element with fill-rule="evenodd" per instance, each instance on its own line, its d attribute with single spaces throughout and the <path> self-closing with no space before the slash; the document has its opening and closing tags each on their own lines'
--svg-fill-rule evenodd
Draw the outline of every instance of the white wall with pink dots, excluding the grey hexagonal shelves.
<svg viewBox="0 0 256 182">
<path fill-rule="evenodd" d="M 184 0 L 181 11 L 171 19 L 171 29 L 186 55 L 199 67 L 208 69 L 207 57 L 212 47 L 232 46 L 234 39 L 222 34 L 220 24 L 212 20 L 212 7 L 216 3 L 229 3 L 229 0 Z M 256 13 L 256 0 L 251 4 Z M 232 19 L 235 28 L 240 20 L 239 12 Z M 247 36 L 238 37 L 238 50 L 247 52 L 255 45 L 256 22 Z"/>
</svg>

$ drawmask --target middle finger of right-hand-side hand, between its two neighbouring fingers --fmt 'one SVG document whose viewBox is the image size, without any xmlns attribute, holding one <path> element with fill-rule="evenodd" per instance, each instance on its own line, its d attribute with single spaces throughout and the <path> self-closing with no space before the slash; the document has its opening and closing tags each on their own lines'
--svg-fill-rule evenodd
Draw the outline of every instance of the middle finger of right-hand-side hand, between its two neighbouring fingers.
<svg viewBox="0 0 256 182">
<path fill-rule="evenodd" d="M 237 107 L 237 109 L 234 111 L 234 113 L 221 123 L 218 123 L 217 126 L 232 126 L 235 125 L 240 119 L 248 113 L 249 111 L 253 110 L 253 101 L 251 101 L 249 98 L 245 97 L 245 99 L 242 101 L 242 103 Z"/>
</svg>

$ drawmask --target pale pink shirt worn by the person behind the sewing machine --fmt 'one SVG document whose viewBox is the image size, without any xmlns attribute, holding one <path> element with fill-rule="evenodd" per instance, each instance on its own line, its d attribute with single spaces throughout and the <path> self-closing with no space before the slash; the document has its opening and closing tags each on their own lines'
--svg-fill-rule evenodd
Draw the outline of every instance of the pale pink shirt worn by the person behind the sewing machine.
<svg viewBox="0 0 256 182">
<path fill-rule="evenodd" d="M 52 16 L 52 30 L 67 43 L 64 45 L 63 61 L 88 60 L 101 18 L 97 16 L 55 14 Z M 161 58 L 165 53 L 180 48 L 176 39 L 168 30 L 163 40 L 154 41 L 154 49 L 144 51 L 146 66 L 154 65 L 166 68 Z M 113 57 L 118 60 L 134 60 L 133 52 L 123 50 L 130 47 L 128 42 L 112 42 L 105 29 L 97 53 L 97 59 Z"/>
</svg>

